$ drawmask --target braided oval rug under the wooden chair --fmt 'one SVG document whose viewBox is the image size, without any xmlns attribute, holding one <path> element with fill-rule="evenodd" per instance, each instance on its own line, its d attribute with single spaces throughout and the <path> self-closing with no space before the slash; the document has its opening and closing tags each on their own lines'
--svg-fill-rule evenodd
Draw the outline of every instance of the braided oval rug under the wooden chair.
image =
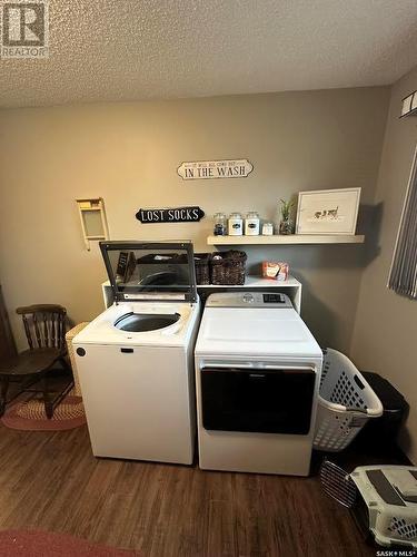
<svg viewBox="0 0 417 557">
<path fill-rule="evenodd" d="M 1 418 L 7 428 L 26 431 L 61 431 L 79 428 L 86 423 L 86 413 L 81 397 L 68 394 L 54 409 L 48 420 L 41 400 L 17 402 Z"/>
</svg>

